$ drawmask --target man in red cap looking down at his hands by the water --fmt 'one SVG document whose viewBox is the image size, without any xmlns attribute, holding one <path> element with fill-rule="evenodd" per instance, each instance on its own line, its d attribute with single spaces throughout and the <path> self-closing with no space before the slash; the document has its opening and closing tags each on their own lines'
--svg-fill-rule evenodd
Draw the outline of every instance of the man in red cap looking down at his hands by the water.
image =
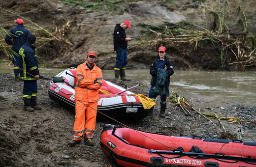
<svg viewBox="0 0 256 167">
<path fill-rule="evenodd" d="M 130 27 L 130 22 L 125 20 L 122 24 L 117 24 L 114 30 L 114 51 L 116 51 L 116 65 L 114 67 L 115 70 L 115 79 L 119 80 L 119 75 L 121 80 L 130 81 L 130 79 L 126 78 L 126 65 L 127 65 L 127 45 L 128 41 L 132 38 L 130 36 L 126 37 L 125 30 Z"/>
</svg>

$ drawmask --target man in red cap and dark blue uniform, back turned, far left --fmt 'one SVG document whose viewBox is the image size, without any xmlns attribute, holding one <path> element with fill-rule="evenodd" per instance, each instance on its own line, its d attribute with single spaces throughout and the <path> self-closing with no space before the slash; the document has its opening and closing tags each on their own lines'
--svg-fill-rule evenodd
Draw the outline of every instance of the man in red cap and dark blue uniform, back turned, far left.
<svg viewBox="0 0 256 167">
<path fill-rule="evenodd" d="M 22 19 L 17 19 L 15 22 L 17 24 L 16 27 L 9 31 L 12 35 L 5 35 L 4 40 L 8 45 L 12 45 L 11 49 L 18 55 L 20 48 L 27 42 L 30 31 L 24 28 Z M 19 57 L 17 55 L 13 54 L 12 63 L 14 64 L 15 81 L 20 81 Z"/>
</svg>

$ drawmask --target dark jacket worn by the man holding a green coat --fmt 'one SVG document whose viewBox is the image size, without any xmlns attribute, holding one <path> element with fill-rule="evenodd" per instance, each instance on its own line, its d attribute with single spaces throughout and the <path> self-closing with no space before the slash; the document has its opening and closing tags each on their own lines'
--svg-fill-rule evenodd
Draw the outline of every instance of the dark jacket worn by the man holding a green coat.
<svg viewBox="0 0 256 167">
<path fill-rule="evenodd" d="M 157 76 L 158 76 L 157 66 L 158 66 L 159 58 L 160 57 L 157 56 L 157 59 L 150 66 L 150 72 L 149 73 L 152 75 L 152 79 L 151 79 L 150 84 L 152 86 L 155 86 L 156 82 L 157 82 Z M 162 68 L 167 70 L 167 72 L 168 72 L 169 77 L 167 78 L 167 83 L 169 85 L 170 84 L 170 76 L 174 73 L 174 71 L 173 71 L 172 64 L 171 64 L 171 62 L 170 62 L 170 60 L 168 59 L 167 56 L 164 56 L 164 62 L 163 62 Z"/>
</svg>

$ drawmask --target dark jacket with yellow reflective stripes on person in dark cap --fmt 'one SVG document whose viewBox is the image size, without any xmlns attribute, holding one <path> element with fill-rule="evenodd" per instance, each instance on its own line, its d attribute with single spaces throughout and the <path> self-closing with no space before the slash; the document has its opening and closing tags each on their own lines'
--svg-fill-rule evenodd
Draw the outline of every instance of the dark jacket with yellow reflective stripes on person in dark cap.
<svg viewBox="0 0 256 167">
<path fill-rule="evenodd" d="M 20 59 L 20 68 L 23 70 L 20 70 L 20 76 L 21 80 L 24 81 L 35 81 L 37 80 L 33 76 L 39 75 L 38 70 L 38 61 L 37 57 L 35 55 L 34 49 L 36 47 L 29 42 L 27 42 L 25 45 L 23 45 L 19 51 L 19 59 Z M 28 73 L 32 74 L 28 74 Z"/>
</svg>

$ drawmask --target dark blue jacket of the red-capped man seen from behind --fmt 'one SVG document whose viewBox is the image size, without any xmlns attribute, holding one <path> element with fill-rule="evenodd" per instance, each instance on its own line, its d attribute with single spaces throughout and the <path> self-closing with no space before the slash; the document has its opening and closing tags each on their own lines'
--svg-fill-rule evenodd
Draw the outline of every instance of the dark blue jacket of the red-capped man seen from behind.
<svg viewBox="0 0 256 167">
<path fill-rule="evenodd" d="M 17 25 L 15 28 L 12 28 L 10 31 L 13 35 L 5 35 L 5 42 L 8 45 L 12 45 L 12 50 L 19 52 L 20 48 L 27 42 L 30 31 L 24 28 L 23 25 Z M 16 35 L 16 36 L 15 36 Z M 13 42 L 12 40 L 13 39 Z"/>
</svg>

